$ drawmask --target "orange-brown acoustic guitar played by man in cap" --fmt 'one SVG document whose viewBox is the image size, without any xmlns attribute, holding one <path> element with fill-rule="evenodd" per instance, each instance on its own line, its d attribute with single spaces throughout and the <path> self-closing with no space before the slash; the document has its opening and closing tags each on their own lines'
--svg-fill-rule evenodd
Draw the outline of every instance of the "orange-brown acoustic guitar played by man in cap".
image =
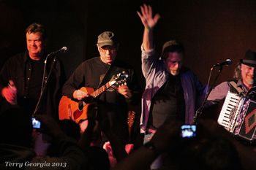
<svg viewBox="0 0 256 170">
<path fill-rule="evenodd" d="M 74 120 L 75 123 L 80 123 L 81 120 L 86 120 L 89 105 L 91 104 L 91 101 L 93 101 L 90 98 L 97 98 L 97 96 L 110 87 L 117 88 L 119 85 L 124 85 L 127 82 L 128 77 L 127 72 L 120 72 L 114 75 L 109 82 L 102 85 L 97 90 L 86 87 L 80 88 L 80 90 L 89 93 L 89 98 L 86 98 L 85 100 L 76 101 L 67 96 L 62 96 L 59 103 L 59 120 L 71 119 Z"/>
</svg>

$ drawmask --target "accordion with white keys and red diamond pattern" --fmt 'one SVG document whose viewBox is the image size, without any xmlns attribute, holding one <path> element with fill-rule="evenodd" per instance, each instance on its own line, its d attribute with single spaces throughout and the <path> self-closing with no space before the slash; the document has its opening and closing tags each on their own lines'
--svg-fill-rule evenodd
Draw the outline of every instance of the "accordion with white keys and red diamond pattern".
<svg viewBox="0 0 256 170">
<path fill-rule="evenodd" d="M 255 142 L 256 101 L 248 96 L 228 91 L 219 113 L 218 123 L 235 136 Z"/>
</svg>

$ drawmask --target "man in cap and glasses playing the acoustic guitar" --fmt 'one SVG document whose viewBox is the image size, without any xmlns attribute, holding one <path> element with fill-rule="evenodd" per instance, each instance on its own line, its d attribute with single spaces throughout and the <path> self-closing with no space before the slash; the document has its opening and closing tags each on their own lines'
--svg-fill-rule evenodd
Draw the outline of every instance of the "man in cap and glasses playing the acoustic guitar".
<svg viewBox="0 0 256 170">
<path fill-rule="evenodd" d="M 119 61 L 117 56 L 118 41 L 112 31 L 105 31 L 99 34 L 97 39 L 99 57 L 91 58 L 80 63 L 75 72 L 64 84 L 62 93 L 64 96 L 75 101 L 84 101 L 91 97 L 91 93 L 80 90 L 82 87 L 99 89 L 111 80 L 113 75 L 121 72 L 128 74 L 125 84 L 117 85 L 103 90 L 95 97 L 99 106 L 99 116 L 102 111 L 107 114 L 110 130 L 118 136 L 121 142 L 126 143 L 128 139 L 127 125 L 127 102 L 132 102 L 136 97 L 135 91 L 139 90 L 134 70 L 127 63 Z M 103 106 L 103 107 L 102 107 Z M 104 108 L 104 109 L 100 109 Z"/>
</svg>

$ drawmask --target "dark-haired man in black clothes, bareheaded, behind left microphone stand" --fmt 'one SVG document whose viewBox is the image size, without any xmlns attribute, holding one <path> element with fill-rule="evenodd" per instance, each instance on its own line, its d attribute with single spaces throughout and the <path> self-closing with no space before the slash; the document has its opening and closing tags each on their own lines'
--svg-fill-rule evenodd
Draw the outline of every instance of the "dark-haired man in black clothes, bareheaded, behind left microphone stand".
<svg viewBox="0 0 256 170">
<path fill-rule="evenodd" d="M 45 66 L 45 27 L 32 23 L 26 28 L 25 53 L 13 56 L 4 64 L 0 74 L 1 108 L 18 104 L 27 114 L 32 115 L 42 91 Z M 58 119 L 58 106 L 61 97 L 61 86 L 64 83 L 62 63 L 51 55 L 46 64 L 45 80 L 47 86 L 42 95 L 37 114 L 47 114 Z M 52 67 L 51 73 L 50 69 Z M 50 74 L 49 74 L 50 73 Z"/>
</svg>

